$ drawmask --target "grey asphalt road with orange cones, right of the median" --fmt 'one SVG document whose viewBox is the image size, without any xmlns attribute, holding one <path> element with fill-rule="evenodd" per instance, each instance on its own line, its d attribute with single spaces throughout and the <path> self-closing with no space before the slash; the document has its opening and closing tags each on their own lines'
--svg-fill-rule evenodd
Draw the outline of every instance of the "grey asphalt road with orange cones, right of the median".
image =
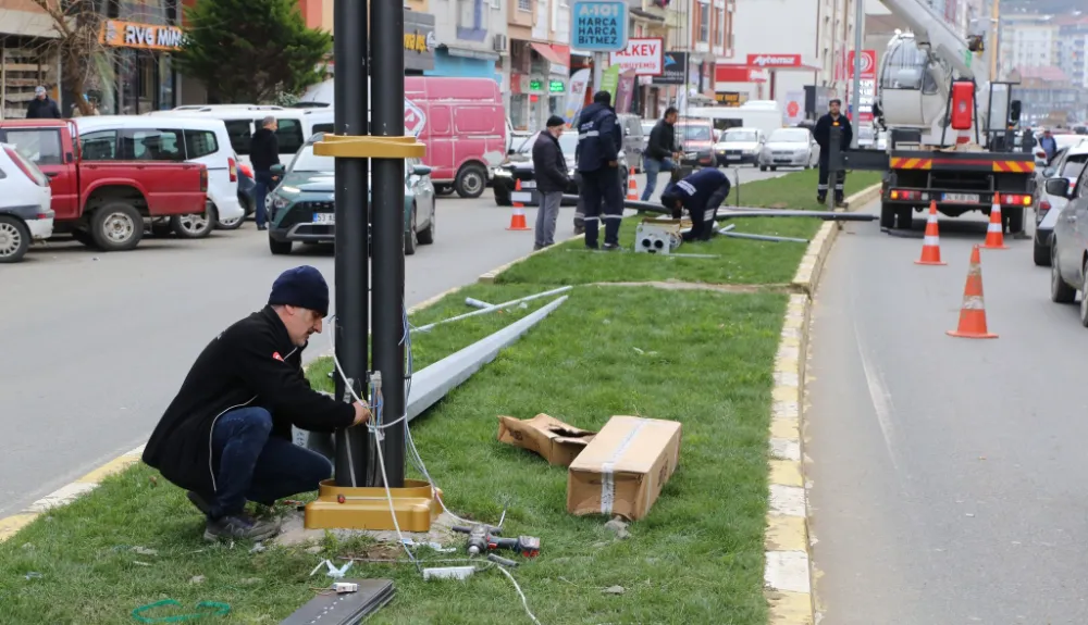
<svg viewBox="0 0 1088 625">
<path fill-rule="evenodd" d="M 805 417 L 823 625 L 1088 623 L 1088 332 L 1006 238 L 981 254 L 999 338 L 945 335 L 976 218 L 941 220 L 948 266 L 914 264 L 920 218 L 831 252 Z"/>
</svg>

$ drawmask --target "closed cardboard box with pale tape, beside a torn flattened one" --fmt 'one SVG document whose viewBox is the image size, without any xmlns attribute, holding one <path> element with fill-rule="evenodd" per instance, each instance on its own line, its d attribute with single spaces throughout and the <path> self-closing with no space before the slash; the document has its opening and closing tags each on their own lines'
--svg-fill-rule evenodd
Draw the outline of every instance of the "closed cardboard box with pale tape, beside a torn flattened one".
<svg viewBox="0 0 1088 625">
<path fill-rule="evenodd" d="M 676 421 L 614 416 L 567 471 L 567 512 L 645 516 L 680 461 Z"/>
</svg>

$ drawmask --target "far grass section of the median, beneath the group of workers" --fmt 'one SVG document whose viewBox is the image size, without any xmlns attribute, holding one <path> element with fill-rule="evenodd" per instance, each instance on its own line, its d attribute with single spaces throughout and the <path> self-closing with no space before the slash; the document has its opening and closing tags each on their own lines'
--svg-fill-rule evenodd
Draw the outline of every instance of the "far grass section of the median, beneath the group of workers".
<svg viewBox="0 0 1088 625">
<path fill-rule="evenodd" d="M 816 202 L 815 170 L 794 172 L 778 178 L 744 183 L 741 173 L 740 203 L 791 210 L 824 210 Z M 851 173 L 846 176 L 846 196 L 880 182 L 880 174 Z M 735 189 L 727 199 L 735 204 Z M 634 230 L 643 217 L 623 220 L 620 243 L 631 249 Z M 802 217 L 742 218 L 737 232 L 811 239 L 823 222 Z M 548 253 L 536 254 L 499 274 L 499 284 L 570 285 L 599 282 L 650 282 L 669 278 L 709 284 L 784 284 L 793 278 L 805 246 L 793 242 L 738 240 L 716 237 L 701 243 L 681 246 L 681 253 L 717 254 L 717 259 L 662 258 L 654 254 L 586 253 L 583 242 L 569 241 Z M 568 251 L 578 250 L 578 251 Z"/>
</svg>

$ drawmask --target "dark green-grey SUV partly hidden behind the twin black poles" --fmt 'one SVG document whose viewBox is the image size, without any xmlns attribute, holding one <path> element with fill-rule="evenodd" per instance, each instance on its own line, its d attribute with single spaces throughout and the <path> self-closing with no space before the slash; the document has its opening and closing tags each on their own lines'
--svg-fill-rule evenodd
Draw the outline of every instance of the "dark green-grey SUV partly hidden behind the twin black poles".
<svg viewBox="0 0 1088 625">
<path fill-rule="evenodd" d="M 287 167 L 275 165 L 280 185 L 269 193 L 269 249 L 289 254 L 296 241 L 331 243 L 336 236 L 335 159 L 313 153 L 318 133 L 299 148 Z M 434 186 L 431 167 L 405 161 L 405 254 L 434 242 Z M 369 198 L 368 198 L 369 200 Z"/>
</svg>

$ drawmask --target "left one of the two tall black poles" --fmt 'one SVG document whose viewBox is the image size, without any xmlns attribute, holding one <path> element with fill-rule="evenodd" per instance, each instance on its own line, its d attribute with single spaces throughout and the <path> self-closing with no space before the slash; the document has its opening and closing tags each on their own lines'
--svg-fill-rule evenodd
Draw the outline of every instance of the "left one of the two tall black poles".
<svg viewBox="0 0 1088 625">
<path fill-rule="evenodd" d="M 337 135 L 367 134 L 367 5 L 336 0 L 334 5 L 334 129 Z M 361 66 L 360 66 L 361 65 Z M 366 397 L 369 276 L 367 271 L 367 165 L 364 159 L 336 159 L 336 357 L 355 393 Z M 341 376 L 336 397 L 354 401 Z M 367 485 L 367 430 L 336 433 L 337 486 Z"/>
</svg>

